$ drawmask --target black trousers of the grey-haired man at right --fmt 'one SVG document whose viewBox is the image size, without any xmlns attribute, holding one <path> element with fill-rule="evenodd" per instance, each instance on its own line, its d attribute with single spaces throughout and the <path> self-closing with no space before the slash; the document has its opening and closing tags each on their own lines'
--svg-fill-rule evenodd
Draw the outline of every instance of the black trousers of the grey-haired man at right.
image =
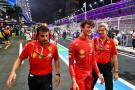
<svg viewBox="0 0 135 90">
<path fill-rule="evenodd" d="M 109 62 L 107 64 L 98 64 L 98 68 L 100 70 L 100 73 L 103 74 L 105 80 L 105 90 L 113 90 L 112 63 Z M 92 84 L 92 90 L 94 89 L 94 86 L 98 79 L 98 76 L 94 70 L 93 70 L 93 78 L 94 80 Z"/>
</svg>

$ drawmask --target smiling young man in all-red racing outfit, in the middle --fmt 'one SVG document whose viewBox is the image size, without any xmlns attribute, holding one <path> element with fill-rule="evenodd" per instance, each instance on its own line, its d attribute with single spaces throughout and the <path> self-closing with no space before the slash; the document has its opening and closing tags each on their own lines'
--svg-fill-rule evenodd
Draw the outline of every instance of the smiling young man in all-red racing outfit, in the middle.
<svg viewBox="0 0 135 90">
<path fill-rule="evenodd" d="M 86 20 L 81 23 L 81 34 L 69 45 L 69 71 L 72 79 L 71 90 L 91 90 L 92 67 L 104 82 L 96 60 L 94 59 L 94 43 L 89 39 L 94 23 Z"/>
</svg>

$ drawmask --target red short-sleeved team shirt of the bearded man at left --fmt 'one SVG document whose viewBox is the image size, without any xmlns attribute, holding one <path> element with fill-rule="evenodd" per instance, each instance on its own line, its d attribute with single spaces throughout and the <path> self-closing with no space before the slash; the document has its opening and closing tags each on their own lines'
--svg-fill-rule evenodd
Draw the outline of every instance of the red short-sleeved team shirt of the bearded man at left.
<svg viewBox="0 0 135 90">
<path fill-rule="evenodd" d="M 40 54 L 43 54 L 40 58 Z M 20 54 L 20 60 L 24 60 L 29 57 L 30 73 L 35 75 L 45 75 L 52 72 L 52 59 L 57 60 L 59 58 L 57 52 L 57 46 L 53 43 L 48 43 L 41 47 L 41 44 L 33 40 L 25 45 L 22 53 Z"/>
</svg>

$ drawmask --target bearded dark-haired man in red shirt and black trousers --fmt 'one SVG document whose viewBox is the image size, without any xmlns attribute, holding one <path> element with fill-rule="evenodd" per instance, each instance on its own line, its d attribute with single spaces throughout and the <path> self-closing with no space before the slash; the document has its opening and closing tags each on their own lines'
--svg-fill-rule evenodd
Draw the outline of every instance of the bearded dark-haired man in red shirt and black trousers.
<svg viewBox="0 0 135 90">
<path fill-rule="evenodd" d="M 37 40 L 25 45 L 22 53 L 16 59 L 12 71 L 7 80 L 7 86 L 11 87 L 16 79 L 16 71 L 21 62 L 29 57 L 29 90 L 52 90 L 52 59 L 55 60 L 56 85 L 60 83 L 60 61 L 57 46 L 49 43 L 49 29 L 45 26 L 37 28 Z"/>
</svg>

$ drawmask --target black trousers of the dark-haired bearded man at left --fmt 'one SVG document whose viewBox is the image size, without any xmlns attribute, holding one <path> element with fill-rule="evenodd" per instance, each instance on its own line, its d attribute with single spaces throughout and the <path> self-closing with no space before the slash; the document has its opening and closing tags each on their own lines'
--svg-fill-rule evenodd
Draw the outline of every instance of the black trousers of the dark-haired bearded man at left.
<svg viewBox="0 0 135 90">
<path fill-rule="evenodd" d="M 29 90 L 52 90 L 52 73 L 28 76 Z"/>
</svg>

